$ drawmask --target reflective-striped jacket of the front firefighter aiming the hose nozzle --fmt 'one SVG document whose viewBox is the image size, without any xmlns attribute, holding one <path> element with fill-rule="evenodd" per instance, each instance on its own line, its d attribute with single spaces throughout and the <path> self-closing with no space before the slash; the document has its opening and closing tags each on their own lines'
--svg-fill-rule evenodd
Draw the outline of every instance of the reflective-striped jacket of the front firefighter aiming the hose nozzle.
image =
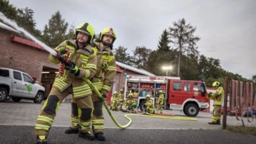
<svg viewBox="0 0 256 144">
<path fill-rule="evenodd" d="M 83 48 L 77 48 L 76 40 L 71 39 L 60 43 L 55 49 L 64 47 L 70 52 L 68 60 L 72 61 L 79 67 L 80 73 L 75 76 L 74 73 L 64 71 L 64 74 L 57 74 L 53 83 L 53 87 L 63 92 L 69 86 L 72 86 L 74 98 L 83 98 L 92 94 L 90 86 L 84 81 L 92 79 L 96 73 L 96 54 L 91 45 Z M 49 61 L 52 63 L 60 63 L 57 58 L 49 54 Z"/>
</svg>

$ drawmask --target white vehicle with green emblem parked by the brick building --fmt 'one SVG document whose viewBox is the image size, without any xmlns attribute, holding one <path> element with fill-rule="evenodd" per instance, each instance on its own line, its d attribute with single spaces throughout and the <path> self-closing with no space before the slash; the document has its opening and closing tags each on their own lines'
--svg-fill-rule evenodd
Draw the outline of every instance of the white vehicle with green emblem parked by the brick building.
<svg viewBox="0 0 256 144">
<path fill-rule="evenodd" d="M 45 88 L 27 73 L 0 67 L 0 101 L 12 98 L 13 101 L 32 99 L 34 103 L 41 103 L 44 94 Z"/>
</svg>

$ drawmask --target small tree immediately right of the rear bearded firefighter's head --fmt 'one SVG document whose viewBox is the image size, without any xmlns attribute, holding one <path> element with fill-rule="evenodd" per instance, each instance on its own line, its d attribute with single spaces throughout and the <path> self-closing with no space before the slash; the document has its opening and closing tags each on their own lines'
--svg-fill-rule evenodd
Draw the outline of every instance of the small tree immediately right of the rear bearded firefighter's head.
<svg viewBox="0 0 256 144">
<path fill-rule="evenodd" d="M 127 48 L 118 46 L 115 48 L 115 58 L 117 62 L 131 64 L 131 56 L 126 52 Z"/>
</svg>

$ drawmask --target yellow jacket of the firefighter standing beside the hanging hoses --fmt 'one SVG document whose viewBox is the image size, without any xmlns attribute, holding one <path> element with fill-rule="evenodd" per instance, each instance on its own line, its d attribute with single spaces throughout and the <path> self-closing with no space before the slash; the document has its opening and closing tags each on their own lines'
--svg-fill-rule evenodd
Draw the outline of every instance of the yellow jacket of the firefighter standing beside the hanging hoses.
<svg viewBox="0 0 256 144">
<path fill-rule="evenodd" d="M 215 93 L 208 95 L 209 99 L 214 100 L 213 105 L 223 105 L 224 90 L 223 87 L 219 86 Z"/>
</svg>

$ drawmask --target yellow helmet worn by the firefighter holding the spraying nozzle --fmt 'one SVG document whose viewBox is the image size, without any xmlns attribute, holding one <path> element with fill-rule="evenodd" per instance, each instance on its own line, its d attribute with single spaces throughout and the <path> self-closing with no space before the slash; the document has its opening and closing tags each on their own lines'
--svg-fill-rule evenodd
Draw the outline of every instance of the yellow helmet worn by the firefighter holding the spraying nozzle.
<svg viewBox="0 0 256 144">
<path fill-rule="evenodd" d="M 93 41 L 93 39 L 95 38 L 95 29 L 89 23 L 82 23 L 76 27 L 75 38 L 77 37 L 77 34 L 79 31 L 89 35 L 89 39 L 88 39 L 87 43 L 91 43 Z"/>
</svg>

